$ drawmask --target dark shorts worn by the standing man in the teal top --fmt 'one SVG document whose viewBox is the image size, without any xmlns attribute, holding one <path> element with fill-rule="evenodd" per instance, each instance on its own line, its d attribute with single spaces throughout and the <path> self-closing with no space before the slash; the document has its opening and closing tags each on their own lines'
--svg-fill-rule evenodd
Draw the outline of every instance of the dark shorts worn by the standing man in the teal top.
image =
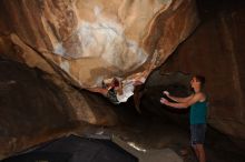
<svg viewBox="0 0 245 162">
<path fill-rule="evenodd" d="M 206 124 L 190 124 L 190 144 L 204 144 Z"/>
</svg>

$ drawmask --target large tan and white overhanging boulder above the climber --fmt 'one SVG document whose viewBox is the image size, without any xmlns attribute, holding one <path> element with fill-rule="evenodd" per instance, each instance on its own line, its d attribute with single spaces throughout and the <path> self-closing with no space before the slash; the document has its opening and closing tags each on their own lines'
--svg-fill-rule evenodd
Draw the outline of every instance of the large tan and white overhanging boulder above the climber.
<svg viewBox="0 0 245 162">
<path fill-rule="evenodd" d="M 80 88 L 144 71 L 155 50 L 159 65 L 198 23 L 194 0 L 0 4 L 1 53 Z"/>
</svg>

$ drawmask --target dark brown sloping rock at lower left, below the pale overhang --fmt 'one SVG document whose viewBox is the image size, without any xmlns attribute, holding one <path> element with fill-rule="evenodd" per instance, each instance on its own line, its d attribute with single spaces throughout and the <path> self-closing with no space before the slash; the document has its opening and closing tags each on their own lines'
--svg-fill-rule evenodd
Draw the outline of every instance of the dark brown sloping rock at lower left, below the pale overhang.
<svg viewBox="0 0 245 162">
<path fill-rule="evenodd" d="M 108 102 L 72 88 L 60 90 L 42 72 L 0 60 L 0 159 L 90 122 L 115 125 Z M 99 103 L 100 107 L 95 107 Z"/>
</svg>

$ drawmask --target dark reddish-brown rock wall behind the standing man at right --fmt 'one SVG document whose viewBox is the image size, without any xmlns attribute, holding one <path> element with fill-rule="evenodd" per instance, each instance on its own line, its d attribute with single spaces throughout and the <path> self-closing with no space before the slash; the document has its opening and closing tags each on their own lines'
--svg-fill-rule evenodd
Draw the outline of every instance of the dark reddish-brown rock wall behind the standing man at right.
<svg viewBox="0 0 245 162">
<path fill-rule="evenodd" d="M 226 134 L 245 139 L 244 2 L 202 1 L 200 11 L 200 26 L 161 72 L 204 74 L 210 101 L 208 122 Z"/>
</svg>

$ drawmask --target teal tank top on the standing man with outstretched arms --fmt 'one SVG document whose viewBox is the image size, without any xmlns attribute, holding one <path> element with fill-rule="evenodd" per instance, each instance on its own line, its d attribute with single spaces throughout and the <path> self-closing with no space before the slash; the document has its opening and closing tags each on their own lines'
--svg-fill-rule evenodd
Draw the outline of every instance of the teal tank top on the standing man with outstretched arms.
<svg viewBox="0 0 245 162">
<path fill-rule="evenodd" d="M 189 122 L 190 124 L 206 123 L 207 102 L 196 102 L 190 107 Z"/>
</svg>

